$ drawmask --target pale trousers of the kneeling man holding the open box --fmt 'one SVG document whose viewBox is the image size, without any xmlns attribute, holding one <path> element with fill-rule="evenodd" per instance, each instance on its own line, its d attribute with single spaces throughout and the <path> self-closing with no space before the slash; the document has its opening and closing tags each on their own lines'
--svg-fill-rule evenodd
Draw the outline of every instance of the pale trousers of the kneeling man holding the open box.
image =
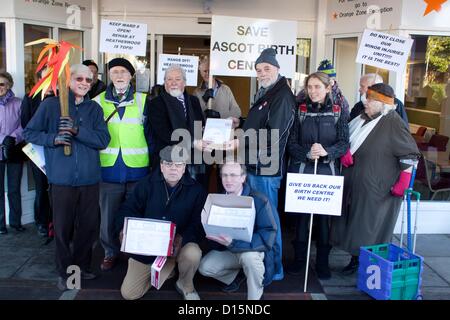
<svg viewBox="0 0 450 320">
<path fill-rule="evenodd" d="M 247 277 L 247 299 L 261 299 L 264 292 L 264 252 L 232 253 L 228 250 L 212 250 L 202 258 L 198 271 L 205 277 L 230 284 L 241 268 Z"/>
</svg>

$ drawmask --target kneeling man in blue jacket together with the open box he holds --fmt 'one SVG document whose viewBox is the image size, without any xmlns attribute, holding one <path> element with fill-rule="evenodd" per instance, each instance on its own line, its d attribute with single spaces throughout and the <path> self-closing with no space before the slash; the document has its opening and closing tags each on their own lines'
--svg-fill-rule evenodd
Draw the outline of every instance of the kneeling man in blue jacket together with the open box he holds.
<svg viewBox="0 0 450 320">
<path fill-rule="evenodd" d="M 234 292 L 247 279 L 248 300 L 259 300 L 264 286 L 272 282 L 275 271 L 276 233 L 279 227 L 277 213 L 263 194 L 251 190 L 245 183 L 245 166 L 234 161 L 227 161 L 221 167 L 223 187 L 230 197 L 229 219 L 215 219 L 214 215 L 226 213 L 221 197 L 210 195 L 202 212 L 202 224 L 212 249 L 200 262 L 199 272 L 206 277 L 213 277 L 226 286 L 225 292 Z M 242 201 L 236 201 L 242 196 Z M 246 203 L 248 197 L 253 201 Z M 220 209 L 217 210 L 217 208 Z M 251 209 L 254 210 L 253 215 Z M 211 210 L 216 210 L 213 212 Z M 236 215 L 243 210 L 241 228 L 236 222 Z M 253 221 L 249 221 L 249 218 Z M 222 220 L 226 226 L 220 227 L 213 220 Z M 239 230 L 240 229 L 240 230 Z M 246 238 L 250 231 L 250 237 Z M 238 240 L 237 237 L 245 239 Z M 243 273 L 240 270 L 243 269 Z"/>
</svg>

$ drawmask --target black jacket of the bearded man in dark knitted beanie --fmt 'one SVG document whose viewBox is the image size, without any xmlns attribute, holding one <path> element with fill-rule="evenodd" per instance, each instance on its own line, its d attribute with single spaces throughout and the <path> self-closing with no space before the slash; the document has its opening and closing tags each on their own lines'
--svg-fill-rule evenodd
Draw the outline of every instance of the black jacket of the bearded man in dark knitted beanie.
<svg viewBox="0 0 450 320">
<path fill-rule="evenodd" d="M 245 161 L 250 173 L 266 176 L 283 175 L 284 151 L 289 130 L 294 122 L 294 107 L 295 97 L 285 77 L 281 77 L 264 96 L 253 104 L 243 125 L 245 135 L 251 137 L 252 130 L 248 131 L 249 129 L 255 129 L 258 133 L 257 143 L 252 143 L 248 139 L 245 142 Z M 267 145 L 260 142 L 259 132 L 261 129 L 267 129 Z M 279 130 L 279 138 L 275 146 L 271 145 L 271 129 Z M 272 171 L 268 168 L 273 164 L 265 162 L 272 157 L 274 148 L 277 148 L 276 152 L 278 152 L 278 166 L 276 170 Z M 262 168 L 266 170 L 261 171 Z"/>
</svg>

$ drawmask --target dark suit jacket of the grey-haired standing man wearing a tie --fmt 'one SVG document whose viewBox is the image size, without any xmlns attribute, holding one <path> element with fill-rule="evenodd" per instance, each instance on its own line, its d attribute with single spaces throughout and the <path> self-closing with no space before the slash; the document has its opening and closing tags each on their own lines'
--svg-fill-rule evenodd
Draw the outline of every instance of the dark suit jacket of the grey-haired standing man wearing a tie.
<svg viewBox="0 0 450 320">
<path fill-rule="evenodd" d="M 200 129 L 205 125 L 202 108 L 197 97 L 184 93 L 184 101 L 187 109 L 187 120 L 184 116 L 183 105 L 177 98 L 165 91 L 152 99 L 148 108 L 148 122 L 145 124 L 145 132 L 148 141 L 154 142 L 153 166 L 159 164 L 159 151 L 165 146 L 174 145 L 180 140 L 172 141 L 172 132 L 176 129 L 186 129 L 191 135 L 191 141 L 186 141 L 192 146 L 194 140 L 194 121 L 198 121 Z M 202 130 L 196 132 L 196 139 L 202 138 Z M 149 137 L 150 136 L 150 137 Z"/>
</svg>

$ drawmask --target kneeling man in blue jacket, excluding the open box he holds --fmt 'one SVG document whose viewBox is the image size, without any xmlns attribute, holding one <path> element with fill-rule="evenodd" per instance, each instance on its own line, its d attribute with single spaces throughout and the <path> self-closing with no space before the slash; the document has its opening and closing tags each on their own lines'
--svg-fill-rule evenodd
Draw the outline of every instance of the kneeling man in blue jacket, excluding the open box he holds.
<svg viewBox="0 0 450 320">
<path fill-rule="evenodd" d="M 235 292 L 247 280 L 247 299 L 259 300 L 264 286 L 275 274 L 275 246 L 278 213 L 269 199 L 245 183 L 246 167 L 227 160 L 220 169 L 227 194 L 252 197 L 255 203 L 255 225 L 251 242 L 234 240 L 227 235 L 207 236 L 211 251 L 203 257 L 199 272 L 223 283 L 223 292 Z"/>
</svg>

